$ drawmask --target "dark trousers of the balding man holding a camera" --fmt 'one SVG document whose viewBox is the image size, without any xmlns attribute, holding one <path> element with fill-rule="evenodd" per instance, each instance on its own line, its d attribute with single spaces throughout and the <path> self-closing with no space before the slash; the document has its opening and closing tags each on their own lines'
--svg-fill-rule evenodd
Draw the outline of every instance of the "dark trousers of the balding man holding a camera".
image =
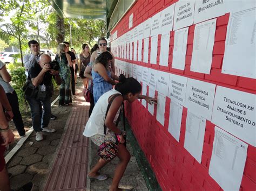
<svg viewBox="0 0 256 191">
<path fill-rule="evenodd" d="M 50 122 L 51 98 L 37 100 L 36 98 L 26 96 L 26 100 L 28 100 L 31 109 L 33 129 L 36 132 L 42 131 L 42 128 L 46 128 Z M 42 105 L 44 107 L 43 111 Z"/>
</svg>

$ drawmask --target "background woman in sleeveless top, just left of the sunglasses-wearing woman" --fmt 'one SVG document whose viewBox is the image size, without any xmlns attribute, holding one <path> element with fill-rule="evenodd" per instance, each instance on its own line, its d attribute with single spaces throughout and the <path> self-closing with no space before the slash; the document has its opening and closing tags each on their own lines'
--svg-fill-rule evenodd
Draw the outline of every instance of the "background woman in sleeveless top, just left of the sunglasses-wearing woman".
<svg viewBox="0 0 256 191">
<path fill-rule="evenodd" d="M 90 54 L 90 47 L 87 44 L 83 44 L 82 46 L 82 52 L 79 55 L 79 76 L 82 78 L 83 80 L 83 84 L 84 87 L 86 86 L 87 83 L 87 79 L 84 76 L 84 70 L 86 68 L 86 66 L 88 65 L 88 63 L 90 62 L 91 59 L 91 54 Z"/>
</svg>

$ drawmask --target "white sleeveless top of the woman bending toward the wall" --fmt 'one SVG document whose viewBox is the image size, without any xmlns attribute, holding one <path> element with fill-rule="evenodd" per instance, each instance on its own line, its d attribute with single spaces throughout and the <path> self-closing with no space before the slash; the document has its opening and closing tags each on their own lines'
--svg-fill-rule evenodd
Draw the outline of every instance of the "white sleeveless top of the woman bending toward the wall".
<svg viewBox="0 0 256 191">
<path fill-rule="evenodd" d="M 109 104 L 109 97 L 113 94 L 121 93 L 115 89 L 107 91 L 105 94 L 99 97 L 95 107 L 92 110 L 92 114 L 88 119 L 83 135 L 85 137 L 91 137 L 96 134 L 104 135 L 104 123 L 106 117 L 107 105 Z M 118 109 L 116 116 L 114 117 L 114 123 L 117 121 L 121 107 Z M 106 129 L 106 133 L 109 129 Z"/>
</svg>

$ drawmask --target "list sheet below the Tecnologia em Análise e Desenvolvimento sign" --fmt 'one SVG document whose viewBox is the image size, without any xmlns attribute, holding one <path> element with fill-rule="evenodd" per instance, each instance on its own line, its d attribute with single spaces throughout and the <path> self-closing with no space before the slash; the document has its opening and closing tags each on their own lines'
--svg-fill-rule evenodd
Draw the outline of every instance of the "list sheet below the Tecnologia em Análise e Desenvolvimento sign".
<svg viewBox="0 0 256 191">
<path fill-rule="evenodd" d="M 209 174 L 224 190 L 239 190 L 248 145 L 215 126 Z"/>
</svg>

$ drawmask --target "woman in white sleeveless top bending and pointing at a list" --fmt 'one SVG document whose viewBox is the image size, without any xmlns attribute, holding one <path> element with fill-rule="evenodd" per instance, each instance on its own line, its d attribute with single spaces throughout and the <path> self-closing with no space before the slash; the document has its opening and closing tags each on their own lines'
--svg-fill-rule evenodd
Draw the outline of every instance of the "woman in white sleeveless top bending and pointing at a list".
<svg viewBox="0 0 256 191">
<path fill-rule="evenodd" d="M 118 188 L 118 183 L 121 180 L 131 157 L 124 145 L 124 132 L 116 126 L 116 121 L 118 120 L 123 101 L 131 103 L 138 98 L 144 98 L 148 103 L 151 101 L 156 102 L 156 100 L 151 97 L 139 95 L 141 90 L 142 86 L 133 77 L 126 79 L 124 76 L 120 76 L 120 82 L 116 84 L 114 89 L 107 91 L 107 93 L 99 98 L 85 126 L 83 135 L 90 137 L 92 142 L 97 146 L 100 146 L 103 143 L 103 140 L 111 140 L 113 143 L 116 143 L 118 147 L 117 157 L 119 158 L 119 163 L 114 171 L 112 184 L 109 189 L 111 191 L 122 190 Z M 106 115 L 110 100 L 112 100 L 112 103 Z M 105 134 L 104 125 L 106 126 Z M 100 158 L 97 164 L 93 166 L 91 171 L 87 174 L 88 178 L 106 180 L 107 175 L 100 174 L 98 171 L 108 162 L 109 160 Z"/>
</svg>

